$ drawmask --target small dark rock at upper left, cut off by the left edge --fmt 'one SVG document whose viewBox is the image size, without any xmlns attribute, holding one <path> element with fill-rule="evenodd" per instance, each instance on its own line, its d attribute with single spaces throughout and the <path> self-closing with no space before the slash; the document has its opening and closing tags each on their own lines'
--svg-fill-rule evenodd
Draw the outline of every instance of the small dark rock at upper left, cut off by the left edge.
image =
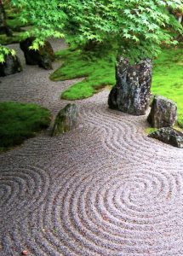
<svg viewBox="0 0 183 256">
<path fill-rule="evenodd" d="M 19 58 L 15 55 L 6 55 L 5 61 L 0 63 L 0 77 L 5 77 L 22 71 Z"/>
</svg>

